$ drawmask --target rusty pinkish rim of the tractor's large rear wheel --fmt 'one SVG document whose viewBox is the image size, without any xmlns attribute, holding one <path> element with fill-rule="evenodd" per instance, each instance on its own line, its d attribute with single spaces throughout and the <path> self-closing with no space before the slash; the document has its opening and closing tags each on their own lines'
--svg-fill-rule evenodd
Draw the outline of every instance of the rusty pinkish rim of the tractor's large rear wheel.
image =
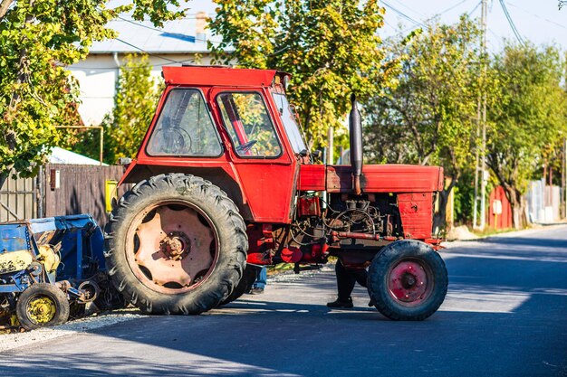
<svg viewBox="0 0 567 377">
<path fill-rule="evenodd" d="M 127 233 L 130 269 L 146 287 L 178 294 L 198 287 L 215 268 L 216 229 L 191 203 L 154 203 L 134 218 Z"/>
</svg>

